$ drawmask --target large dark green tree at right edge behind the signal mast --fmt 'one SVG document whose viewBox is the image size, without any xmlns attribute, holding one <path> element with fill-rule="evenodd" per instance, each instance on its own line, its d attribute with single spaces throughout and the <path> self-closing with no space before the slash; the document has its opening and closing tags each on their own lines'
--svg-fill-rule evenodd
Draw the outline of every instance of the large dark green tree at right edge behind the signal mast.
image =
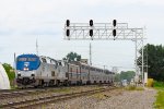
<svg viewBox="0 0 164 109">
<path fill-rule="evenodd" d="M 154 46 L 148 44 L 143 50 L 143 58 L 147 59 L 148 57 L 148 76 L 156 81 L 164 81 L 164 47 L 162 45 Z M 142 53 L 142 50 L 140 50 L 140 53 Z M 139 57 L 139 59 L 141 58 Z"/>
</svg>

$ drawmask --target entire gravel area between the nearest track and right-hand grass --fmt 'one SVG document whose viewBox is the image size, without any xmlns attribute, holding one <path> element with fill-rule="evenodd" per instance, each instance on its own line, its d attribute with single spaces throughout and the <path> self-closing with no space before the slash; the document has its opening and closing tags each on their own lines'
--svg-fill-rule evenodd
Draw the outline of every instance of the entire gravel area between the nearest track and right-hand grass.
<svg viewBox="0 0 164 109">
<path fill-rule="evenodd" d="M 65 101 L 38 106 L 46 109 L 153 109 L 155 89 L 114 89 L 92 96 L 78 97 Z"/>
</svg>

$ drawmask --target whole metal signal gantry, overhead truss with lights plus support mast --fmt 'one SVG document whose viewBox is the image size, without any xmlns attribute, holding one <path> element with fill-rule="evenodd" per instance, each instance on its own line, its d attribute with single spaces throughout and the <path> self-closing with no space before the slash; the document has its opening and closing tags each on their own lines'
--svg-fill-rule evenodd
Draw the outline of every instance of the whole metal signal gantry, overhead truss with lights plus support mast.
<svg viewBox="0 0 164 109">
<path fill-rule="evenodd" d="M 70 23 L 67 20 L 65 24 L 65 39 L 67 40 L 132 40 L 136 44 L 136 72 L 137 75 L 142 74 L 147 66 L 143 59 L 143 28 L 131 28 L 128 23 Z M 142 58 L 140 58 L 142 56 Z"/>
</svg>

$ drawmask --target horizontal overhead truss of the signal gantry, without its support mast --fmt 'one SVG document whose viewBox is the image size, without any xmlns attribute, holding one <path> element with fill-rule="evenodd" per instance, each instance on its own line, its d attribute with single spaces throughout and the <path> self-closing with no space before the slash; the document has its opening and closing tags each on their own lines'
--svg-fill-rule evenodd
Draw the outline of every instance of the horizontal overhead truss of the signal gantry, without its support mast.
<svg viewBox="0 0 164 109">
<path fill-rule="evenodd" d="M 90 21 L 91 22 L 91 21 Z M 128 23 L 68 23 L 65 39 L 142 40 L 143 28 L 129 28 Z M 115 37 L 114 37 L 115 36 Z"/>
</svg>

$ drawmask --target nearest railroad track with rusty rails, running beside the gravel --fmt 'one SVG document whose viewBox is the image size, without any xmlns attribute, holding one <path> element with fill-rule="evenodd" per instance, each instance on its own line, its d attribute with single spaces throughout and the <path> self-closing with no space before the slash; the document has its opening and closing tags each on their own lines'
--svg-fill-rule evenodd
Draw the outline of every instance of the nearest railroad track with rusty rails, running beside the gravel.
<svg viewBox="0 0 164 109">
<path fill-rule="evenodd" d="M 80 96 L 93 95 L 96 93 L 102 93 L 102 92 L 110 90 L 116 87 L 106 87 L 106 88 L 92 89 L 92 90 L 85 90 L 85 92 L 69 93 L 69 94 L 62 94 L 62 95 L 54 95 L 54 96 L 39 97 L 39 98 L 34 98 L 34 99 L 26 99 L 26 100 L 22 100 L 17 102 L 15 101 L 15 102 L 1 105 L 0 108 L 9 108 L 9 109 L 33 108 L 38 105 L 61 101 L 61 100 L 71 99 L 71 98 L 80 97 Z"/>
</svg>

